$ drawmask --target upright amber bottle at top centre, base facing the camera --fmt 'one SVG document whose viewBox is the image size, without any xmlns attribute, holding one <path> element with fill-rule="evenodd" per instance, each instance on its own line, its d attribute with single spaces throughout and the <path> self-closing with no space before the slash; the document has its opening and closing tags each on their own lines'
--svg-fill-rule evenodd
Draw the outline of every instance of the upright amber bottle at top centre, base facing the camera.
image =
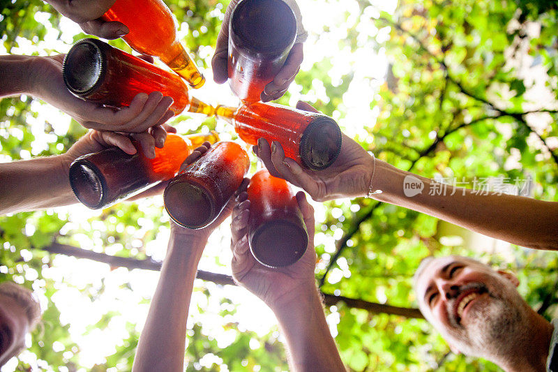
<svg viewBox="0 0 558 372">
<path fill-rule="evenodd" d="M 294 45 L 296 18 L 282 0 L 241 0 L 229 22 L 229 84 L 241 101 L 260 99 Z"/>
</svg>

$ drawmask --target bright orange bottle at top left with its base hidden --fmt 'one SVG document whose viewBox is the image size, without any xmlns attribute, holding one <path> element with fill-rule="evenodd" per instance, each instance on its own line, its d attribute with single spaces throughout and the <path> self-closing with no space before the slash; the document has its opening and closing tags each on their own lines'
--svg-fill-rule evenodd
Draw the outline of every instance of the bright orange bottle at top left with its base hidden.
<svg viewBox="0 0 558 372">
<path fill-rule="evenodd" d="M 195 89 L 205 78 L 176 36 L 176 20 L 162 0 L 116 0 L 102 17 L 130 30 L 123 39 L 136 52 L 159 57 Z"/>
</svg>

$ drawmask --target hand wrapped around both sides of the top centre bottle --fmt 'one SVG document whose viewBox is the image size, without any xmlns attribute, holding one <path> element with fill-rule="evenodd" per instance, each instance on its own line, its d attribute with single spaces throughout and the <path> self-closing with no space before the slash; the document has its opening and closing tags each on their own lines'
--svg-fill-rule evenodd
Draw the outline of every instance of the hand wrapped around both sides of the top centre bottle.
<svg viewBox="0 0 558 372">
<path fill-rule="evenodd" d="M 215 47 L 215 54 L 213 59 L 211 59 L 211 66 L 213 68 L 213 80 L 218 84 L 223 84 L 229 78 L 228 75 L 228 58 L 229 58 L 229 21 L 232 10 L 236 6 L 239 0 L 231 0 L 227 11 L 225 12 L 225 19 L 221 24 L 221 29 L 219 35 L 217 36 L 217 43 Z M 289 6 L 293 8 L 296 17 L 296 31 L 297 39 L 296 43 L 293 45 L 285 64 L 282 66 L 281 70 L 277 73 L 272 82 L 269 82 L 262 92 L 260 98 L 263 102 L 273 101 L 280 98 L 285 91 L 289 88 L 289 85 L 294 81 L 294 77 L 299 73 L 300 66 L 303 60 L 303 41 L 306 39 L 306 31 L 304 31 L 301 24 L 300 11 L 298 6 L 294 9 L 292 5 L 294 1 L 289 1 Z"/>
</svg>

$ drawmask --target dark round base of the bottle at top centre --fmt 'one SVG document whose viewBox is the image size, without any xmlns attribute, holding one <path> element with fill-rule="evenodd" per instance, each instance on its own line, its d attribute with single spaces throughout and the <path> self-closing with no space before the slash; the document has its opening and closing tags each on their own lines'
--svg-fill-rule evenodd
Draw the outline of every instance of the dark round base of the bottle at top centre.
<svg viewBox="0 0 558 372">
<path fill-rule="evenodd" d="M 282 54 L 296 38 L 296 17 L 282 0 L 241 0 L 230 27 L 236 45 L 257 53 Z"/>
</svg>

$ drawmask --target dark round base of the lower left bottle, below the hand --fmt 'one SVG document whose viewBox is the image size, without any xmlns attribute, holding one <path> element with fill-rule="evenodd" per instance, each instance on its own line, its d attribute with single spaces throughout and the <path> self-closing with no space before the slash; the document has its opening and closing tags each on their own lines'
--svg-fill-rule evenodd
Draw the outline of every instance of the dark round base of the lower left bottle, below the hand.
<svg viewBox="0 0 558 372">
<path fill-rule="evenodd" d="M 105 204 L 105 179 L 100 170 L 85 159 L 77 158 L 69 170 L 70 186 L 77 200 L 91 209 Z"/>
</svg>

